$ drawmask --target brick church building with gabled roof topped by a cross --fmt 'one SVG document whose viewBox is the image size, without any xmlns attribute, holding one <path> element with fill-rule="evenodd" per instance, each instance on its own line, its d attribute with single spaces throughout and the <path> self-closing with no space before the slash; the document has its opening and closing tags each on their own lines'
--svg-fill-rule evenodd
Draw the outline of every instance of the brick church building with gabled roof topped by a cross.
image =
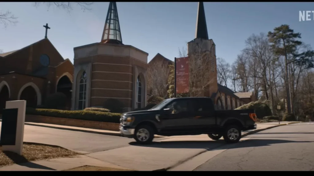
<svg viewBox="0 0 314 176">
<path fill-rule="evenodd" d="M 0 111 L 6 101 L 14 100 L 26 100 L 26 106 L 38 107 L 56 92 L 67 96 L 70 109 L 73 70 L 71 61 L 63 59 L 47 37 L 0 54 Z"/>
</svg>

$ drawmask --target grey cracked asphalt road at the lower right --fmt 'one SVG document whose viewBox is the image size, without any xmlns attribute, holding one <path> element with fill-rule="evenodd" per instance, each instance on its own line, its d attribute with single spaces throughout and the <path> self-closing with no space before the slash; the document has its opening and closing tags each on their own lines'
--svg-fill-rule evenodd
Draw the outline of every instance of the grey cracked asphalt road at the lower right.
<svg viewBox="0 0 314 176">
<path fill-rule="evenodd" d="M 247 137 L 194 171 L 314 171 L 314 122 L 276 127 Z"/>
</svg>

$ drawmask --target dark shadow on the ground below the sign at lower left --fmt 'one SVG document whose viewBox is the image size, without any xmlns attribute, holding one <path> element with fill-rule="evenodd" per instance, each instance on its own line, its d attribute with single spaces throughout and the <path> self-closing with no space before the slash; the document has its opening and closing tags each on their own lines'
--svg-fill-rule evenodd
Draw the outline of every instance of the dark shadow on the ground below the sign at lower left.
<svg viewBox="0 0 314 176">
<path fill-rule="evenodd" d="M 46 170 L 56 170 L 53 168 L 49 168 L 40 164 L 29 162 L 25 157 L 10 151 L 3 151 L 8 158 L 12 159 L 12 161 L 20 166 L 25 166 L 28 168 L 36 168 L 36 169 L 46 169 Z"/>
</svg>

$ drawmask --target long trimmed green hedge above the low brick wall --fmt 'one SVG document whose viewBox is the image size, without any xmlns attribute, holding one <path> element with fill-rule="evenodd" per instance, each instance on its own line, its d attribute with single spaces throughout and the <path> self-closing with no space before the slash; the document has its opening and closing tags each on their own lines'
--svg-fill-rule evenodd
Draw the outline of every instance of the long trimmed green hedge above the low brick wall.
<svg viewBox="0 0 314 176">
<path fill-rule="evenodd" d="M 61 117 L 78 120 L 89 120 L 98 122 L 120 123 L 119 113 L 100 111 L 64 111 L 57 109 L 34 109 L 26 108 L 26 114 L 36 116 Z"/>
</svg>

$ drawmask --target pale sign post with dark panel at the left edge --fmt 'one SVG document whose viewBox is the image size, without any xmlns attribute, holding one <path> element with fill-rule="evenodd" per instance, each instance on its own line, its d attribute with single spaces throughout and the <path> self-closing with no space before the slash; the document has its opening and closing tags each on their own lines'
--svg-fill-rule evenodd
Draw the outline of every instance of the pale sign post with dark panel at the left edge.
<svg viewBox="0 0 314 176">
<path fill-rule="evenodd" d="M 3 109 L 0 145 L 3 151 L 22 155 L 26 101 L 7 101 Z"/>
</svg>

